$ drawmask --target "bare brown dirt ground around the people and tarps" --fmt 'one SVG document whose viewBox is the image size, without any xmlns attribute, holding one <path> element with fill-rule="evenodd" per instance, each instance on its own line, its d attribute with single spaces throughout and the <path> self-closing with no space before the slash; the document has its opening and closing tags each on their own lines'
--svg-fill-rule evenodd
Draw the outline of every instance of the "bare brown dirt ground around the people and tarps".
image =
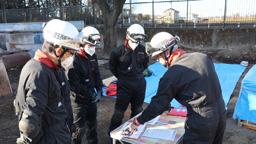
<svg viewBox="0 0 256 144">
<path fill-rule="evenodd" d="M 237 102 L 237 98 L 240 91 L 241 80 L 244 78 L 249 69 L 256 64 L 256 46 L 239 46 L 232 49 L 216 50 L 216 51 L 198 51 L 197 49 L 181 48 L 188 52 L 203 52 L 213 58 L 214 63 L 226 63 L 226 64 L 240 64 L 241 61 L 248 61 L 249 65 L 237 82 L 236 88 L 230 97 L 227 104 L 227 127 L 224 134 L 223 144 L 255 144 L 256 143 L 256 131 L 237 126 L 237 119 L 232 119 L 234 113 L 234 107 Z M 98 59 L 105 59 L 101 54 L 101 49 L 98 49 Z M 150 65 L 156 62 L 155 58 L 150 58 Z M 101 78 L 109 78 L 112 73 L 108 70 L 107 64 L 99 66 L 101 72 Z M 15 144 L 16 139 L 19 137 L 19 128 L 17 116 L 14 114 L 13 100 L 15 98 L 15 91 L 17 90 L 20 72 L 22 68 L 16 68 L 7 70 L 10 84 L 12 86 L 13 94 L 0 97 L 0 144 Z M 158 82 L 155 83 L 158 85 Z M 108 143 L 108 126 L 111 120 L 111 116 L 114 112 L 115 98 L 103 96 L 98 103 L 98 138 L 99 144 Z M 147 107 L 148 103 L 143 104 L 143 108 Z M 129 120 L 131 113 L 130 106 L 125 112 L 123 122 Z M 83 143 L 86 144 L 85 137 Z M 182 141 L 180 142 L 183 143 Z"/>
</svg>

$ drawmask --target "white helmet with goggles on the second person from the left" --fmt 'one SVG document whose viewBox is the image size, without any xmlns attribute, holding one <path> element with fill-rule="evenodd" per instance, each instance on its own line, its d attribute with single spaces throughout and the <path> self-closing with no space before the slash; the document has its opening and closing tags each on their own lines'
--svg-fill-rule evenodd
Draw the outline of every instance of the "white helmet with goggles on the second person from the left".
<svg viewBox="0 0 256 144">
<path fill-rule="evenodd" d="M 99 31 L 94 27 L 85 27 L 81 31 L 83 32 L 83 42 L 90 45 L 99 46 L 103 40 L 103 35 L 99 34 Z"/>
</svg>

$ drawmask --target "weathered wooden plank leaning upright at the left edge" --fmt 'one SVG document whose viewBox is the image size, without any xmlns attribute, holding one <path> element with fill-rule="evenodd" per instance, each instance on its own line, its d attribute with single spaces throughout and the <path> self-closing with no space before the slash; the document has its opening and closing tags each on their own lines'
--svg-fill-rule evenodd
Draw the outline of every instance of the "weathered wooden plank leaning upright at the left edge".
<svg viewBox="0 0 256 144">
<path fill-rule="evenodd" d="M 3 60 L 0 60 L 0 96 L 12 94 L 12 87 L 3 63 Z"/>
</svg>

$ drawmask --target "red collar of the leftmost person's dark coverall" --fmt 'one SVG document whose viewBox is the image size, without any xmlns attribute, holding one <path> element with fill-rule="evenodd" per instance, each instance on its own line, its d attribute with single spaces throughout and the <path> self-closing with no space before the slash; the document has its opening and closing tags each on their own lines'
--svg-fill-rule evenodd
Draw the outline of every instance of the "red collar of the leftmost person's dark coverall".
<svg viewBox="0 0 256 144">
<path fill-rule="evenodd" d="M 60 68 L 58 68 L 58 66 L 54 64 L 50 56 L 45 54 L 45 52 L 41 51 L 40 49 L 36 51 L 34 59 L 39 62 L 45 63 L 47 66 L 49 66 L 50 68 L 54 68 L 56 71 L 60 70 Z"/>
</svg>

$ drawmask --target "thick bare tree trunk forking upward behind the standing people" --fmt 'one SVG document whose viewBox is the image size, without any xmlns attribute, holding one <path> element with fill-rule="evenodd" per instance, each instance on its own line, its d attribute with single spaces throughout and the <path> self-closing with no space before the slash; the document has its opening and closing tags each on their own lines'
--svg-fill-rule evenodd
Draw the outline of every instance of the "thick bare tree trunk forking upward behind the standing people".
<svg viewBox="0 0 256 144">
<path fill-rule="evenodd" d="M 116 48 L 116 24 L 125 0 L 95 0 L 104 18 L 104 55 L 109 56 Z M 112 5 L 110 4 L 112 3 Z M 112 6 L 112 7 L 111 7 Z"/>
</svg>

